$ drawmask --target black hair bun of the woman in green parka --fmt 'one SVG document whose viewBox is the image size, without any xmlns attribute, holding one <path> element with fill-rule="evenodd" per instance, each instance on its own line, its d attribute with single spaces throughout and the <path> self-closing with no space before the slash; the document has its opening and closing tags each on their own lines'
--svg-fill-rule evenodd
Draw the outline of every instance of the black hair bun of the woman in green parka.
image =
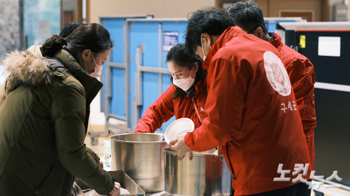
<svg viewBox="0 0 350 196">
<path fill-rule="evenodd" d="M 41 47 L 41 51 L 44 56 L 54 56 L 66 44 L 65 38 L 59 35 L 52 35 L 52 37 L 46 39 Z"/>
</svg>

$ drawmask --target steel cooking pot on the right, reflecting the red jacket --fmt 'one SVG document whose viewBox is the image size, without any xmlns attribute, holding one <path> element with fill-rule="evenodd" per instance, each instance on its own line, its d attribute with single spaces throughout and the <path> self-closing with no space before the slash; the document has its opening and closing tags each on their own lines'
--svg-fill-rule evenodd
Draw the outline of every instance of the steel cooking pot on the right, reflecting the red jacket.
<svg viewBox="0 0 350 196">
<path fill-rule="evenodd" d="M 194 154 L 192 161 L 186 155 L 178 161 L 173 150 L 163 149 L 165 157 L 166 196 L 229 196 L 232 175 L 223 155 L 212 154 L 215 149 Z"/>
</svg>

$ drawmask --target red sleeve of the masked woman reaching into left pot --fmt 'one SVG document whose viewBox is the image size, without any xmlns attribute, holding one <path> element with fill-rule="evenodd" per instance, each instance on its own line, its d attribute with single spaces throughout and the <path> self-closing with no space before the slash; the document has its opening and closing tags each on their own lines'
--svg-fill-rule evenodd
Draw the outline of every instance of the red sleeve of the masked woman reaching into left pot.
<svg viewBox="0 0 350 196">
<path fill-rule="evenodd" d="M 135 133 L 154 133 L 162 127 L 164 122 L 172 118 L 174 113 L 174 99 L 172 95 L 175 86 L 171 84 L 168 89 L 149 107 L 142 115 Z"/>
</svg>

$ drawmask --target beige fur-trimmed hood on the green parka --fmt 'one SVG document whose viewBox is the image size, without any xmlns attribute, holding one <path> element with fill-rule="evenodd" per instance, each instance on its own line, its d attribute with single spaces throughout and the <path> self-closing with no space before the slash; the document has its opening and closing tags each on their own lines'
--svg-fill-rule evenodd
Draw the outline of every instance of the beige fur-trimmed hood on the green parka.
<svg viewBox="0 0 350 196">
<path fill-rule="evenodd" d="M 13 51 L 2 60 L 2 74 L 9 84 L 37 86 L 49 84 L 53 68 L 47 59 L 38 58 L 29 51 Z M 8 84 L 7 84 L 8 85 Z"/>
</svg>

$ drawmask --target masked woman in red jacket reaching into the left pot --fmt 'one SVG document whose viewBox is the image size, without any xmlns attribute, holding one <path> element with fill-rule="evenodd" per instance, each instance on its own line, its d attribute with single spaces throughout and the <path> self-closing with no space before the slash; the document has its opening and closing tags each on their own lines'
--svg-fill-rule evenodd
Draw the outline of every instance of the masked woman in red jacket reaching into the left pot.
<svg viewBox="0 0 350 196">
<path fill-rule="evenodd" d="M 173 84 L 144 112 L 135 133 L 154 133 L 174 115 L 189 118 L 195 128 L 208 115 L 204 110 L 207 99 L 207 71 L 203 61 L 187 55 L 185 44 L 177 44 L 167 55 Z"/>
</svg>

